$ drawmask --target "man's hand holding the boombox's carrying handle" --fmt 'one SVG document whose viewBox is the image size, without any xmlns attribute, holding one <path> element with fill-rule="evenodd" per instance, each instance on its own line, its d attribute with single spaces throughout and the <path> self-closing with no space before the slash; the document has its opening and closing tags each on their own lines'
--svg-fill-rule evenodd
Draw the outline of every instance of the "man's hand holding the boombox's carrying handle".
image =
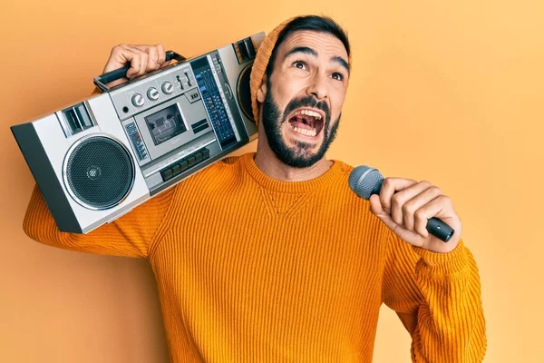
<svg viewBox="0 0 544 363">
<path fill-rule="evenodd" d="M 148 72 L 156 71 L 165 67 L 169 62 L 165 62 L 166 52 L 161 44 L 155 45 L 131 45 L 119 44 L 112 48 L 110 59 L 104 65 L 102 73 L 108 73 L 119 69 L 125 64 L 130 63 L 131 68 L 127 71 L 126 78 L 106 84 L 108 87 L 126 82 L 127 79 L 138 77 Z"/>
</svg>

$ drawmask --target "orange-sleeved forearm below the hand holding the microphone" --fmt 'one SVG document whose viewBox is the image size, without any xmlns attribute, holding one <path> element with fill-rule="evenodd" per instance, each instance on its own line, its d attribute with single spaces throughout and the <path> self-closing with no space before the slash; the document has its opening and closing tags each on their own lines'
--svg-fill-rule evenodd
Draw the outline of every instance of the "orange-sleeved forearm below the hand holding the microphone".
<svg viewBox="0 0 544 363">
<path fill-rule="evenodd" d="M 461 242 L 447 254 L 414 248 L 423 302 L 413 329 L 414 362 L 481 362 L 487 340 L 480 276 Z"/>
</svg>

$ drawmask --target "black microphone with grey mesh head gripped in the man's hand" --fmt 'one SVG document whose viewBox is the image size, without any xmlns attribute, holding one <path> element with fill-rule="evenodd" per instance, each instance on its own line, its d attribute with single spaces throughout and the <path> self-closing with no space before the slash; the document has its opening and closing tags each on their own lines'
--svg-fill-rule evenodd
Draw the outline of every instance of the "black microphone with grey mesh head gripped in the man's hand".
<svg viewBox="0 0 544 363">
<path fill-rule="evenodd" d="M 384 175 L 370 166 L 357 166 L 349 174 L 349 187 L 360 198 L 369 200 L 372 194 L 379 194 L 384 183 Z M 442 220 L 432 217 L 427 221 L 427 231 L 434 237 L 447 242 L 452 238 L 453 229 Z"/>
</svg>

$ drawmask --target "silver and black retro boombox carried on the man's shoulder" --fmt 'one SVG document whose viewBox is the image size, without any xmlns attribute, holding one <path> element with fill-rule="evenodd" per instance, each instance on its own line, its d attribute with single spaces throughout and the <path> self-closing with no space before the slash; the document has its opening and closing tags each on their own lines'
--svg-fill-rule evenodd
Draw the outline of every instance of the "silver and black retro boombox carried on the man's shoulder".
<svg viewBox="0 0 544 363">
<path fill-rule="evenodd" d="M 249 76 L 258 33 L 12 126 L 61 231 L 87 233 L 257 138 Z"/>
</svg>

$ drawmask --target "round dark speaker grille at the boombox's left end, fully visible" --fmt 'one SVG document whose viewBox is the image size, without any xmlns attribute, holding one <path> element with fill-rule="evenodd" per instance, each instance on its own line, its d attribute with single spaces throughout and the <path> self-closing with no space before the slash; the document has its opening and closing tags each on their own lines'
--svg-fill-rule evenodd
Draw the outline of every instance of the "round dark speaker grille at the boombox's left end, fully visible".
<svg viewBox="0 0 544 363">
<path fill-rule="evenodd" d="M 75 146 L 65 163 L 65 181 L 76 201 L 108 209 L 131 191 L 134 164 L 126 148 L 109 137 L 92 136 Z"/>
</svg>

